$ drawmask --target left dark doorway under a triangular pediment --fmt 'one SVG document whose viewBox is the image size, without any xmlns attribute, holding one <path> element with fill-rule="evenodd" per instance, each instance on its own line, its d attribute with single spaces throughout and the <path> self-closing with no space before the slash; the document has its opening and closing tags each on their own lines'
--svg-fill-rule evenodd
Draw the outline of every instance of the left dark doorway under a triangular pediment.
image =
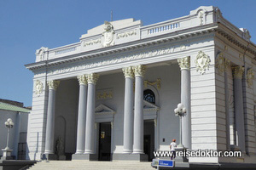
<svg viewBox="0 0 256 170">
<path fill-rule="evenodd" d="M 99 127 L 99 161 L 110 161 L 111 123 L 101 122 Z"/>
</svg>

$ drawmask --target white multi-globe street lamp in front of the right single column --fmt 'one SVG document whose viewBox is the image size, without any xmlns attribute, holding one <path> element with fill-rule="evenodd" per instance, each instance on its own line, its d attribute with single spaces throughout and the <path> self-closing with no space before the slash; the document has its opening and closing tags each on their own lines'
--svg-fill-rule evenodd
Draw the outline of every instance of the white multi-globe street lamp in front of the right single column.
<svg viewBox="0 0 256 170">
<path fill-rule="evenodd" d="M 186 116 L 186 108 L 183 106 L 183 104 L 178 104 L 177 108 L 174 110 L 175 116 L 179 116 L 179 144 L 177 145 L 177 148 L 184 148 L 182 139 L 183 139 L 183 132 L 182 132 L 182 117 Z"/>
</svg>

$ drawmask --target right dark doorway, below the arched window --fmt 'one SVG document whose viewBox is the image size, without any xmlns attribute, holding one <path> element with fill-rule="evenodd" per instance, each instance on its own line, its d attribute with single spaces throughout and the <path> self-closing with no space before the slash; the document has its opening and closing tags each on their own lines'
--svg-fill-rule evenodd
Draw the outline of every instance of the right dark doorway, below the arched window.
<svg viewBox="0 0 256 170">
<path fill-rule="evenodd" d="M 148 161 L 154 158 L 154 120 L 144 121 L 144 152 Z"/>
</svg>

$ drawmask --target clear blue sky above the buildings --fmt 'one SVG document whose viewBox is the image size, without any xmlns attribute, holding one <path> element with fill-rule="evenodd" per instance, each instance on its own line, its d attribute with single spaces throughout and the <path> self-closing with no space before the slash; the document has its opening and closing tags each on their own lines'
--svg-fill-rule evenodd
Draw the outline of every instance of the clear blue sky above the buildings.
<svg viewBox="0 0 256 170">
<path fill-rule="evenodd" d="M 189 15 L 200 6 L 220 8 L 247 28 L 256 43 L 256 0 L 0 0 L 0 99 L 32 105 L 32 71 L 38 48 L 74 42 L 105 20 L 134 18 L 143 26 Z"/>
</svg>

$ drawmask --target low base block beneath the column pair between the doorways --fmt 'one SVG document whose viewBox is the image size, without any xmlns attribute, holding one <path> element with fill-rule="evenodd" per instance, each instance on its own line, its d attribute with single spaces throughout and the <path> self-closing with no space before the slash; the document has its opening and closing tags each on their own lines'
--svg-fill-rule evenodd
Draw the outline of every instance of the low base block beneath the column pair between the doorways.
<svg viewBox="0 0 256 170">
<path fill-rule="evenodd" d="M 113 153 L 112 161 L 148 161 L 148 155 Z"/>
</svg>

